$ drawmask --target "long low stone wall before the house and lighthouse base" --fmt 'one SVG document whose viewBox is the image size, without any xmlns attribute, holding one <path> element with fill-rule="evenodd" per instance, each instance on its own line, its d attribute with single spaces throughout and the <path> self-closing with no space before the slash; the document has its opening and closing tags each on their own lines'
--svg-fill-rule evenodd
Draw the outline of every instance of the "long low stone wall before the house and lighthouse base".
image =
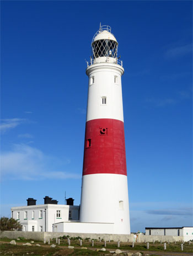
<svg viewBox="0 0 193 256">
<path fill-rule="evenodd" d="M 1 231 L 0 238 L 8 237 L 10 239 L 17 239 L 18 237 L 24 237 L 27 239 L 34 239 L 39 241 L 44 241 L 44 238 L 56 238 L 62 236 L 70 237 L 81 237 L 81 238 L 91 238 L 91 239 L 104 239 L 108 241 L 109 239 L 113 241 L 121 242 L 133 242 L 133 234 L 92 234 L 92 233 L 63 233 L 63 232 L 31 232 L 31 231 Z"/>
</svg>

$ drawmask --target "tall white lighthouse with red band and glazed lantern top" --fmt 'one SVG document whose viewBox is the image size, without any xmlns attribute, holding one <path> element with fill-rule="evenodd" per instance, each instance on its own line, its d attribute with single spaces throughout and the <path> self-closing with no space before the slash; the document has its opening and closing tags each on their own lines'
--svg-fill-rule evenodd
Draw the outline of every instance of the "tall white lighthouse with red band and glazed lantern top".
<svg viewBox="0 0 193 256">
<path fill-rule="evenodd" d="M 110 26 L 100 25 L 91 46 L 80 222 L 111 223 L 112 233 L 130 234 L 121 87 L 124 68 Z"/>
</svg>

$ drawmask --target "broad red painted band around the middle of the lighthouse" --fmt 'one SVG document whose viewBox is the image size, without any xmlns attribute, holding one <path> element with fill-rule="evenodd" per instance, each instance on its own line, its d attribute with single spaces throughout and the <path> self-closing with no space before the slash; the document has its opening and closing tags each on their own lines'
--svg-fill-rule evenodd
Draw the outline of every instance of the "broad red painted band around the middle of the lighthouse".
<svg viewBox="0 0 193 256">
<path fill-rule="evenodd" d="M 124 122 L 120 120 L 86 123 L 83 175 L 98 173 L 127 175 Z"/>
</svg>

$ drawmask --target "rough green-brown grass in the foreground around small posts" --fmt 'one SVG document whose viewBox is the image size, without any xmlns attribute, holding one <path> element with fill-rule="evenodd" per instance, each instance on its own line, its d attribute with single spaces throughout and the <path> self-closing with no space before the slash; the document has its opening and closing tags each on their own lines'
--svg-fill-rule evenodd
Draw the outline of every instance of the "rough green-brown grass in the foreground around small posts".
<svg viewBox="0 0 193 256">
<path fill-rule="evenodd" d="M 1 238 L 0 241 L 3 242 L 10 242 L 12 239 L 8 238 Z M 35 241 L 34 239 L 22 239 L 17 241 L 14 239 L 17 245 L 12 245 L 12 244 L 6 244 L 3 243 L 1 244 L 1 252 L 6 253 L 6 255 L 26 255 L 26 253 L 29 253 L 31 255 L 53 255 L 54 253 L 64 253 L 64 254 L 58 254 L 58 255 L 104 255 L 108 252 L 95 252 L 95 250 L 89 250 L 89 249 L 81 249 L 81 247 L 87 247 L 91 248 L 92 247 L 92 242 L 89 242 L 87 240 L 82 240 L 82 246 L 79 245 L 79 241 L 76 240 L 71 240 L 71 246 L 74 247 L 79 247 L 79 248 L 74 248 L 74 249 L 68 249 L 68 248 L 63 248 L 61 249 L 60 247 L 55 247 L 51 248 L 48 244 L 47 247 L 42 247 L 44 243 L 42 241 Z M 36 247 L 36 246 L 22 246 L 22 243 L 27 243 L 34 241 L 34 244 L 39 243 L 41 247 Z M 56 244 L 56 239 L 50 239 L 50 245 L 51 244 Z M 60 241 L 60 246 L 68 246 L 67 239 L 61 239 Z M 94 241 L 94 248 L 103 248 L 104 247 L 104 242 L 99 242 L 99 241 Z M 181 243 L 167 243 L 167 249 L 163 249 L 164 245 L 163 243 L 149 243 L 149 249 L 147 249 L 147 244 L 146 243 L 135 243 L 135 247 L 132 248 L 132 243 L 124 243 L 120 242 L 120 247 L 119 249 L 121 250 L 130 250 L 130 251 L 138 251 L 138 252 L 146 252 L 149 255 L 153 256 L 151 252 L 176 252 L 180 253 L 181 251 Z M 183 253 L 192 253 L 192 244 L 189 245 L 189 243 L 184 243 L 184 250 Z M 117 249 L 117 243 L 116 242 L 106 242 L 106 249 L 111 249 L 111 250 L 116 250 Z M 10 252 L 10 253 L 9 253 Z M 2 254 L 1 254 L 2 255 Z"/>
</svg>

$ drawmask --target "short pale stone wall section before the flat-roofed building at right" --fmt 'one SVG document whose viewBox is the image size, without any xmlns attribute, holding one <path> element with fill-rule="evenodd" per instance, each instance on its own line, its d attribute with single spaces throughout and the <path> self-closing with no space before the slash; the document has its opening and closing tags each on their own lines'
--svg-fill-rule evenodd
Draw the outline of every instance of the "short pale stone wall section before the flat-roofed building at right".
<svg viewBox="0 0 193 256">
<path fill-rule="evenodd" d="M 176 242 L 180 242 L 184 240 L 183 236 L 149 236 L 147 234 L 138 234 L 138 239 L 137 239 L 139 243 L 143 243 L 144 241 L 146 242 L 153 242 L 153 241 L 159 241 L 159 242 L 167 242 L 168 241 L 170 243 L 174 243 Z"/>
</svg>

